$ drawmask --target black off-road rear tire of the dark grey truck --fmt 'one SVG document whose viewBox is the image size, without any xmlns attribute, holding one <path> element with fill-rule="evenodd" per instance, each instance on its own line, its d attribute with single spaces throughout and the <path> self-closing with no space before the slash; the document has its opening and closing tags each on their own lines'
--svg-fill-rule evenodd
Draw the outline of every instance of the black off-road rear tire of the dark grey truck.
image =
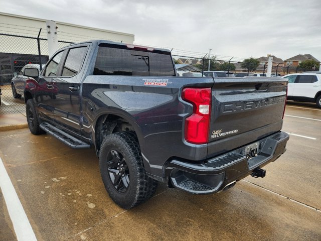
<svg viewBox="0 0 321 241">
<path fill-rule="evenodd" d="M 124 175 L 128 176 L 129 180 L 126 188 L 124 183 L 126 181 L 115 185 L 116 178 L 112 178 L 114 171 L 118 172 L 115 170 L 116 168 L 113 168 L 118 165 L 116 165 L 117 161 L 113 159 L 115 153 L 119 157 L 117 160 L 126 166 Z M 155 181 L 145 173 L 137 138 L 132 133 L 113 133 L 106 136 L 99 151 L 99 166 L 102 181 L 109 196 L 122 208 L 129 209 L 137 206 L 149 199 L 155 192 Z M 121 189 L 119 186 L 122 186 Z"/>
</svg>

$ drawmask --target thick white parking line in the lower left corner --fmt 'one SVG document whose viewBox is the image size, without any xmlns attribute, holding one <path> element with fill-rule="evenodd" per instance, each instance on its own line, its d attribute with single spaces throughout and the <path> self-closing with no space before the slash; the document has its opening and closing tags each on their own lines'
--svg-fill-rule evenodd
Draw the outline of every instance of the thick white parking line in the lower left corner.
<svg viewBox="0 0 321 241">
<path fill-rule="evenodd" d="M 4 195 L 7 209 L 14 225 L 18 241 L 37 241 L 34 230 L 28 220 L 16 190 L 0 158 L 0 187 Z"/>
</svg>

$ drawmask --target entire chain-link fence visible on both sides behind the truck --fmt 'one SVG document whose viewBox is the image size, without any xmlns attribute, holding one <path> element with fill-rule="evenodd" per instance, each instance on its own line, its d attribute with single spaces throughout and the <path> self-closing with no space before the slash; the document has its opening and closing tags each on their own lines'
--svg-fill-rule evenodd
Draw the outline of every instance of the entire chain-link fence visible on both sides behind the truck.
<svg viewBox="0 0 321 241">
<path fill-rule="evenodd" d="M 34 30 L 34 32 L 37 32 Z M 1 34 L 0 33 L 0 88 L 2 95 L 0 113 L 26 112 L 24 97 L 15 92 L 15 85 L 12 79 L 23 78 L 22 69 L 27 64 L 40 65 L 48 61 L 48 41 L 38 37 Z M 58 48 L 66 47 L 73 42 L 58 41 Z M 152 47 L 152 46 L 150 46 Z M 207 58 L 205 54 L 172 49 L 172 56 L 180 76 L 193 73 L 187 76 L 202 76 L 207 70 L 222 71 L 228 73 L 228 77 L 244 77 L 260 74 L 264 76 L 267 72 L 267 62 L 246 62 L 246 60 L 229 56 L 212 56 Z M 255 61 L 255 62 L 254 62 Z M 272 75 L 282 76 L 290 73 L 301 73 L 305 69 L 295 66 L 283 66 L 283 63 L 273 62 Z M 222 77 L 222 75 L 220 75 Z M 24 87 L 23 87 L 24 88 Z"/>
</svg>

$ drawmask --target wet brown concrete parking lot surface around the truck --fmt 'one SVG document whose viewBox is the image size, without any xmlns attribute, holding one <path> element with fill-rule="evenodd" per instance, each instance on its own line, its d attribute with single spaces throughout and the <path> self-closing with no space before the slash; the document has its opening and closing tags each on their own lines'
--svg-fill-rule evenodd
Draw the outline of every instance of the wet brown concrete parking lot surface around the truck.
<svg viewBox="0 0 321 241">
<path fill-rule="evenodd" d="M 101 181 L 93 148 L 73 150 L 28 129 L 0 132 L 0 158 L 38 240 L 321 240 L 321 109 L 289 102 L 287 151 L 228 191 L 159 185 L 124 210 Z M 0 240 L 15 240 L 0 190 Z"/>
</svg>

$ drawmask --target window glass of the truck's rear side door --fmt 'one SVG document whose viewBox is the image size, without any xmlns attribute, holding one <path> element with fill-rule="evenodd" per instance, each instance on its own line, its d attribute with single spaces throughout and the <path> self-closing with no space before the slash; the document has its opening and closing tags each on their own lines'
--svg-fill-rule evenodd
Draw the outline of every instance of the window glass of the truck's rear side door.
<svg viewBox="0 0 321 241">
<path fill-rule="evenodd" d="M 81 69 L 86 52 L 86 46 L 70 49 L 62 71 L 62 76 L 73 76 L 77 74 Z"/>
</svg>

